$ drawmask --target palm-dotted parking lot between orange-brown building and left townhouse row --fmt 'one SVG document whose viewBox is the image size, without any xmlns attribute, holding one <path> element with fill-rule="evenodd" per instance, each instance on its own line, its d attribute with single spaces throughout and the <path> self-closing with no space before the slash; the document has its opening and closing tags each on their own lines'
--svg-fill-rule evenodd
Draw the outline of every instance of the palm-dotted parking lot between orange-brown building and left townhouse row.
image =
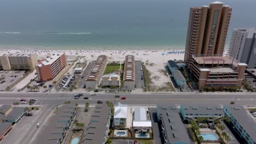
<svg viewBox="0 0 256 144">
<path fill-rule="evenodd" d="M 57 92 L 70 91 L 72 86 L 75 87 L 75 83 L 78 82 L 79 77 L 80 75 L 64 75 L 54 88 Z"/>
</svg>

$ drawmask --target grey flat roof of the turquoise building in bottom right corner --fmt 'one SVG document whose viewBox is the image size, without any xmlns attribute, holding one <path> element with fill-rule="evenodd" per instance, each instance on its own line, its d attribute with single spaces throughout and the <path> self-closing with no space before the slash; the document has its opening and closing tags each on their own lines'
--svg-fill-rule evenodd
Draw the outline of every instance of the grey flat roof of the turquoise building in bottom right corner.
<svg viewBox="0 0 256 144">
<path fill-rule="evenodd" d="M 241 105 L 225 105 L 231 115 L 246 130 L 246 133 L 256 142 L 256 123 Z"/>
</svg>

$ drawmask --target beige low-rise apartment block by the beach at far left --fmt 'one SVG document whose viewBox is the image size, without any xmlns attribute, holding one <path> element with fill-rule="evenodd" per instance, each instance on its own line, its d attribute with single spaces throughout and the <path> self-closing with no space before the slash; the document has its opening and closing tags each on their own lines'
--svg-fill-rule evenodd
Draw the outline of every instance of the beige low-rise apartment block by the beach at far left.
<svg viewBox="0 0 256 144">
<path fill-rule="evenodd" d="M 36 53 L 5 53 L 0 56 L 0 69 L 33 70 L 37 61 Z"/>
</svg>

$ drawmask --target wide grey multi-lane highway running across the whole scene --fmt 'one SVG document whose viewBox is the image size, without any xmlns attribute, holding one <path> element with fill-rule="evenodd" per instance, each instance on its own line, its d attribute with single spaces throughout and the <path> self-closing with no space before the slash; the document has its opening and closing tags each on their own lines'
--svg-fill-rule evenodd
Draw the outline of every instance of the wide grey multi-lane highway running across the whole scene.
<svg viewBox="0 0 256 144">
<path fill-rule="evenodd" d="M 80 99 L 73 99 L 73 95 L 77 93 L 0 93 L 0 105 L 13 104 L 21 99 L 37 98 L 36 105 L 46 107 L 54 107 L 63 104 L 70 100 L 72 103 L 79 105 L 85 104 L 87 101 L 90 104 L 96 104 L 98 100 L 103 102 L 112 101 L 129 105 L 152 105 L 156 104 L 229 104 L 230 101 L 235 101 L 240 105 L 256 104 L 256 94 L 254 93 L 171 93 L 171 94 L 119 94 L 120 97 L 126 97 L 125 100 L 114 98 L 116 94 L 97 93 L 95 96 L 90 96 L 89 93 L 84 93 Z M 89 99 L 83 99 L 88 97 Z M 28 105 L 28 104 L 20 104 Z"/>
</svg>

